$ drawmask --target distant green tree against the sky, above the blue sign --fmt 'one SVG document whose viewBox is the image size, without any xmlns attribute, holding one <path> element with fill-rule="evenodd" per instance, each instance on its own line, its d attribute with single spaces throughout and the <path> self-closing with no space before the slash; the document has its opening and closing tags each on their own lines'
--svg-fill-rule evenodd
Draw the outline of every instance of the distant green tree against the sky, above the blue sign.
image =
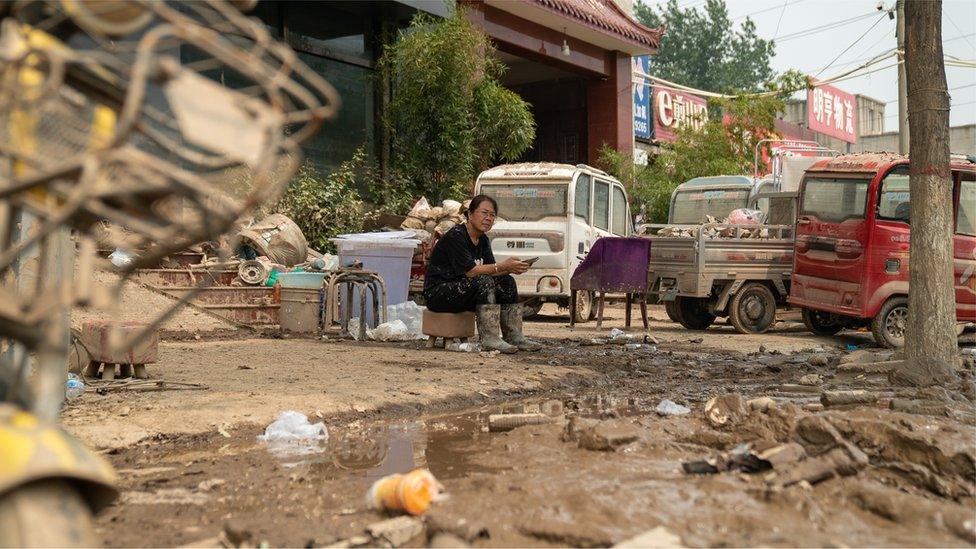
<svg viewBox="0 0 976 549">
<path fill-rule="evenodd" d="M 667 28 L 660 51 L 650 57 L 653 76 L 720 93 L 758 91 L 773 78 L 773 41 L 757 36 L 748 17 L 736 29 L 724 0 L 708 0 L 701 10 L 681 8 L 676 0 L 655 10 L 638 1 L 634 14 L 644 25 Z"/>
</svg>

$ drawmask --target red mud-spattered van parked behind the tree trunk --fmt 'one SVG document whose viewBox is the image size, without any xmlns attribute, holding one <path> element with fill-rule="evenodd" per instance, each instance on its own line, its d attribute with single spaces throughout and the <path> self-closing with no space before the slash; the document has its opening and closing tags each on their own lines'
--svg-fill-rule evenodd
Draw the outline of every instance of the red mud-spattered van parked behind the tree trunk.
<svg viewBox="0 0 976 549">
<path fill-rule="evenodd" d="M 908 158 L 839 156 L 811 166 L 799 197 L 790 303 L 814 333 L 870 326 L 904 345 L 908 315 Z M 976 163 L 953 157 L 956 320 L 976 321 Z"/>
</svg>

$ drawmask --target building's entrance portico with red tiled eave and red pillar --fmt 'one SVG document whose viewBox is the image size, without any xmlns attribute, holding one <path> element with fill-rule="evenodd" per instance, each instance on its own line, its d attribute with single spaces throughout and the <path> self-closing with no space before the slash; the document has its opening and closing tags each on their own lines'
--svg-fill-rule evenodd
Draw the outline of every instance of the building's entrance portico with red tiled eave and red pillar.
<svg viewBox="0 0 976 549">
<path fill-rule="evenodd" d="M 509 70 L 502 83 L 532 108 L 527 161 L 595 165 L 607 145 L 634 147 L 631 59 L 657 52 L 662 29 L 613 0 L 462 0 Z"/>
</svg>

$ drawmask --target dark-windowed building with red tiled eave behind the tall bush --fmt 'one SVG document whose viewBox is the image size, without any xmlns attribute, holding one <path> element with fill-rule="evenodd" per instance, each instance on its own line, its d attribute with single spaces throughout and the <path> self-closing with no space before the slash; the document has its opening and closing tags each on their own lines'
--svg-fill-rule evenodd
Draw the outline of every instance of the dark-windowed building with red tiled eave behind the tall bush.
<svg viewBox="0 0 976 549">
<path fill-rule="evenodd" d="M 604 144 L 633 151 L 631 58 L 655 53 L 663 30 L 640 25 L 618 1 L 458 2 L 508 66 L 502 83 L 531 106 L 536 141 L 523 160 L 596 164 Z M 303 144 L 308 162 L 328 173 L 360 147 L 381 166 L 389 162 L 381 120 L 384 98 L 396 90 L 384 89 L 376 72 L 383 47 L 418 12 L 444 17 L 452 9 L 442 0 L 258 3 L 250 15 L 342 97 L 338 117 Z M 192 61 L 192 52 L 182 55 Z"/>
</svg>

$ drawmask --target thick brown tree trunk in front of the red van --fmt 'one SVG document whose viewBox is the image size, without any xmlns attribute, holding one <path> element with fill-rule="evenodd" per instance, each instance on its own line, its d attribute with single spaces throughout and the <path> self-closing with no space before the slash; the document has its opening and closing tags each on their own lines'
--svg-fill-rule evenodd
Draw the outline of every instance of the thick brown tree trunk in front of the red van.
<svg viewBox="0 0 976 549">
<path fill-rule="evenodd" d="M 942 1 L 907 0 L 905 73 L 911 102 L 907 358 L 952 364 L 958 356 L 952 260 L 949 92 L 942 53 Z M 902 135 L 907 132 L 902 131 Z"/>
</svg>

